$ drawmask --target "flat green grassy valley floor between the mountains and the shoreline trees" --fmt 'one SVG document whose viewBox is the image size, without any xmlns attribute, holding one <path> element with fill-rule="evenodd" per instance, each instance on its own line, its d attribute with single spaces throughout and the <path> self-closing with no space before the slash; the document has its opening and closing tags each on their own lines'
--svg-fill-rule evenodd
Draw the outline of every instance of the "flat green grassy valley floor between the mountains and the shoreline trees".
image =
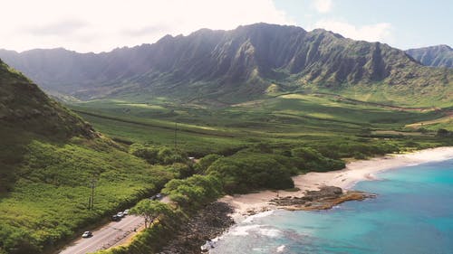
<svg viewBox="0 0 453 254">
<path fill-rule="evenodd" d="M 445 117 L 444 111 L 433 108 L 395 108 L 320 93 L 281 94 L 222 108 L 163 99 L 140 103 L 94 100 L 70 107 L 102 133 L 126 143 L 174 146 L 178 123 L 178 148 L 195 156 L 230 155 L 258 143 L 278 149 L 348 144 L 391 144 L 403 149 L 438 146 L 443 141 L 433 133 L 406 126 Z M 399 134 L 374 135 L 384 130 Z"/>
</svg>

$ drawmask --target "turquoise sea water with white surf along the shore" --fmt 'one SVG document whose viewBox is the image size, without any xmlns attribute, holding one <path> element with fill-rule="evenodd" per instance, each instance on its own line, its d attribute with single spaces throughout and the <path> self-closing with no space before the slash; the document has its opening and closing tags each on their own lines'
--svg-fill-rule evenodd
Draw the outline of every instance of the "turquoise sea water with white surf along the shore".
<svg viewBox="0 0 453 254">
<path fill-rule="evenodd" d="M 453 160 L 378 176 L 354 187 L 378 193 L 376 199 L 252 216 L 211 253 L 453 253 Z"/>
</svg>

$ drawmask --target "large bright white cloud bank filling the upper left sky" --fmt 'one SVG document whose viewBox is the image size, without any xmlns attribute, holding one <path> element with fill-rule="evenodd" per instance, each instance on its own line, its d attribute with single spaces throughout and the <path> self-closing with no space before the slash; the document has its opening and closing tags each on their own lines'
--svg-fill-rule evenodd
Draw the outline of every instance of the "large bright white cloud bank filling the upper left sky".
<svg viewBox="0 0 453 254">
<path fill-rule="evenodd" d="M 295 24 L 273 0 L 14 0 L 5 1 L 2 9 L 8 11 L 0 15 L 0 48 L 16 51 L 65 47 L 101 52 L 200 28 Z"/>
</svg>

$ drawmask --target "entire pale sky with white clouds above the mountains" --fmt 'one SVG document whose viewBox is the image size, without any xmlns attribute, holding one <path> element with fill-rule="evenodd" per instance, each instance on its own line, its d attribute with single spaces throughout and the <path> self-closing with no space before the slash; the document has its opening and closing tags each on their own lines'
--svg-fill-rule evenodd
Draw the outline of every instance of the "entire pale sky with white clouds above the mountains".
<svg viewBox="0 0 453 254">
<path fill-rule="evenodd" d="M 0 48 L 76 52 L 157 42 L 200 28 L 265 22 L 403 50 L 453 46 L 452 0 L 0 0 Z"/>
</svg>

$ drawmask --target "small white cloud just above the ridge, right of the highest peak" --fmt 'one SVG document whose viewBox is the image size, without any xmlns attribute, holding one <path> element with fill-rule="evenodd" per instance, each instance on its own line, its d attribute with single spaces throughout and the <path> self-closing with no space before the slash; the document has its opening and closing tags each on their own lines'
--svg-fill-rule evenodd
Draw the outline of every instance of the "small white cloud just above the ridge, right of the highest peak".
<svg viewBox="0 0 453 254">
<path fill-rule="evenodd" d="M 363 40 L 368 42 L 391 42 L 392 25 L 390 23 L 378 23 L 356 26 L 342 21 L 322 20 L 314 24 L 315 28 L 340 33 L 344 37 L 354 40 Z"/>
</svg>

